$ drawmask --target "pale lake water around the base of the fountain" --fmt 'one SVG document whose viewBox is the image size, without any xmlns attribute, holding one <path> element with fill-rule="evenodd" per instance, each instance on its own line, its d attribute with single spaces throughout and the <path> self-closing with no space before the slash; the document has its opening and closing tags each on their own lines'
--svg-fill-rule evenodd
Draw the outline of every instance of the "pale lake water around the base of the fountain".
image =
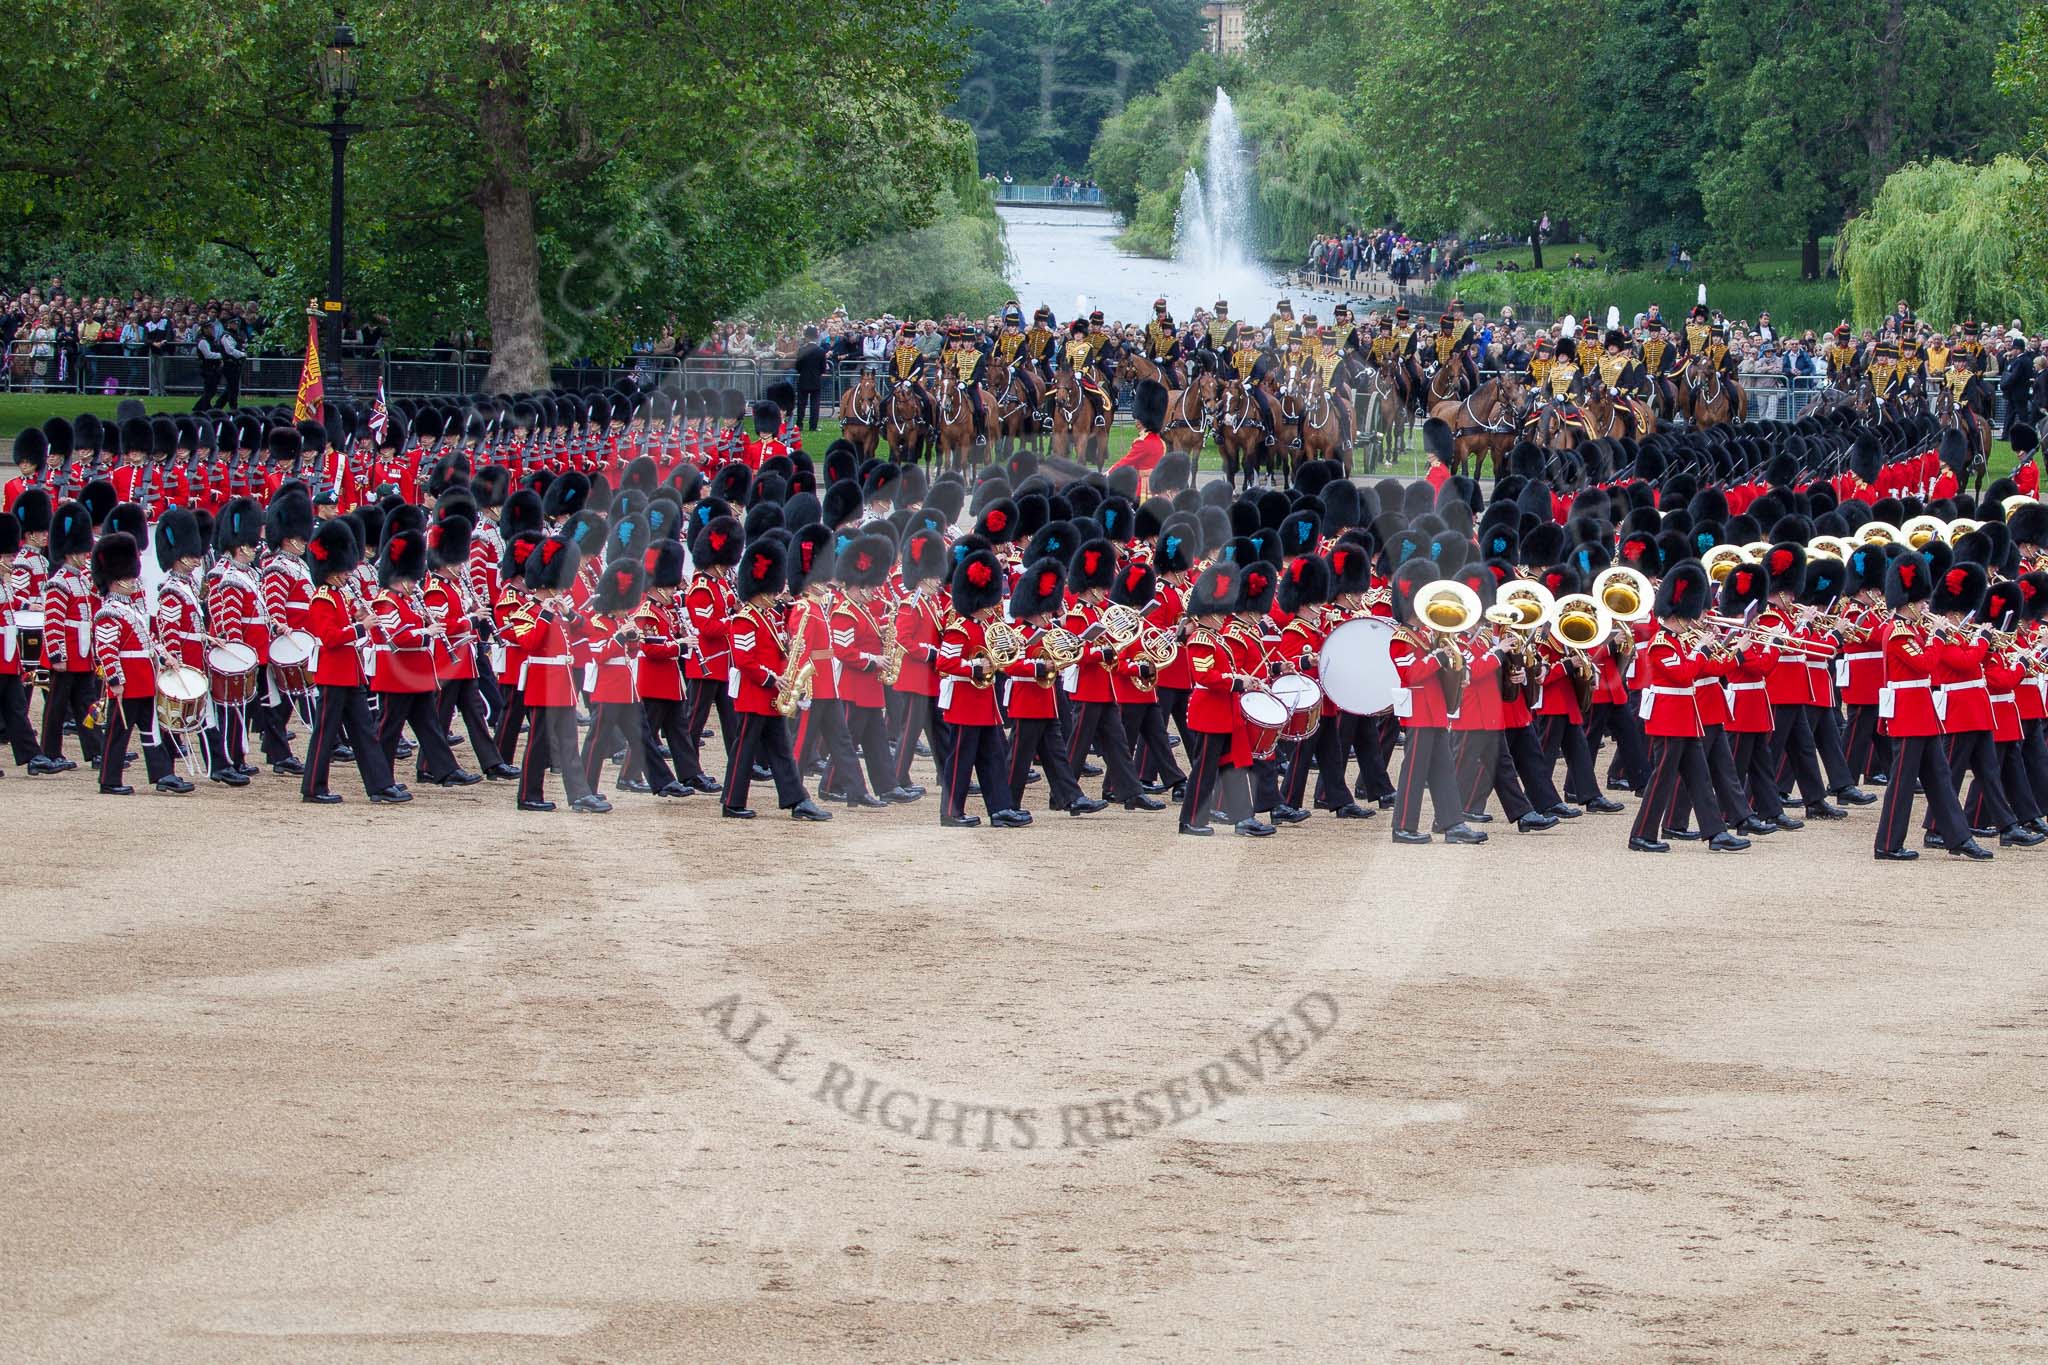
<svg viewBox="0 0 2048 1365">
<path fill-rule="evenodd" d="M 997 213 L 1010 239 L 1010 284 L 1026 317 L 1044 303 L 1061 321 L 1090 309 L 1102 309 L 1112 321 L 1143 321 L 1151 317 L 1153 299 L 1163 295 L 1182 321 L 1219 297 L 1229 301 L 1231 317 L 1247 321 L 1266 321 L 1280 299 L 1292 299 L 1296 317 L 1315 313 L 1329 321 L 1331 305 L 1364 303 L 1290 289 L 1278 270 L 1253 268 L 1217 280 L 1182 262 L 1124 252 L 1116 246 L 1120 219 L 1108 209 L 1001 207 Z"/>
</svg>

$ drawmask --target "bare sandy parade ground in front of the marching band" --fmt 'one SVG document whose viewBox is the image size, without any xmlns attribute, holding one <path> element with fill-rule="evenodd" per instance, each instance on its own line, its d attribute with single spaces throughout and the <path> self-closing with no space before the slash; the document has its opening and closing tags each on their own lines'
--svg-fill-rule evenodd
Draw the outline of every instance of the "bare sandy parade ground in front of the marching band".
<svg viewBox="0 0 2048 1365">
<path fill-rule="evenodd" d="M 6 1359 L 2048 1357 L 2048 851 L 334 786 L 0 782 Z"/>
</svg>

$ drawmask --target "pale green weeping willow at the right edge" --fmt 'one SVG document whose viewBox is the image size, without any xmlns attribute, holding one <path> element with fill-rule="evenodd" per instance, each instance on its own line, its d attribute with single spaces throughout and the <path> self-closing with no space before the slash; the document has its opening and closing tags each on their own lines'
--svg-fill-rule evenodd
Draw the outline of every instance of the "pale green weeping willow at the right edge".
<svg viewBox="0 0 2048 1365">
<path fill-rule="evenodd" d="M 2042 272 L 2025 262 L 2025 203 L 2040 192 L 2040 172 L 2013 156 L 1894 170 L 1837 248 L 1855 323 L 1876 325 L 1898 299 L 1937 327 L 1966 317 L 2048 323 Z"/>
</svg>

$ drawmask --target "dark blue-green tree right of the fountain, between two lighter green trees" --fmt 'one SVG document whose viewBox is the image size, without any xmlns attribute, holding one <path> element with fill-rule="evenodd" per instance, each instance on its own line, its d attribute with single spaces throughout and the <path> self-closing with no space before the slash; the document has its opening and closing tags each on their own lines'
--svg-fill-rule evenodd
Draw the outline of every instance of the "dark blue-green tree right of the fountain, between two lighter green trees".
<svg viewBox="0 0 2048 1365">
<path fill-rule="evenodd" d="M 1706 239 L 1694 14 L 1694 0 L 1608 0 L 1581 76 L 1587 207 L 1577 221 L 1622 266 Z"/>
</svg>

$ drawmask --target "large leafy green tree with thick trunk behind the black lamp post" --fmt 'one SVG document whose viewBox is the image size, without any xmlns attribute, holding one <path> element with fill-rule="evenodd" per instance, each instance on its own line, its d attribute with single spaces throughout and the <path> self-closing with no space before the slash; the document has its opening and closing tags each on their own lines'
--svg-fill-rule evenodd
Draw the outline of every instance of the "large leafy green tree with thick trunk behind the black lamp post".
<svg viewBox="0 0 2048 1365">
<path fill-rule="evenodd" d="M 326 111 L 305 63 L 332 8 L 18 8 L 0 29 L 18 74 L 0 194 L 16 213 L 225 244 L 281 307 L 317 291 Z M 922 0 L 371 0 L 350 20 L 352 117 L 371 129 L 348 162 L 350 303 L 481 315 L 494 387 L 537 387 L 551 350 L 616 352 L 670 313 L 700 325 L 827 248 L 924 227 L 956 158 L 938 113 L 956 76 L 946 10 Z"/>
</svg>

